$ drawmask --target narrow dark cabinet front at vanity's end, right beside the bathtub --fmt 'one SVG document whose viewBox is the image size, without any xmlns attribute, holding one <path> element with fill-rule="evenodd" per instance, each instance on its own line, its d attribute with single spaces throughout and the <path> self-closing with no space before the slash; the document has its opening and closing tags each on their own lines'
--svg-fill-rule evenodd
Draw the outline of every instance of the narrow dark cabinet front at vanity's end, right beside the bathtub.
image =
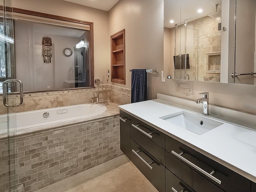
<svg viewBox="0 0 256 192">
<path fill-rule="evenodd" d="M 130 115 L 120 110 L 120 149 L 131 159 Z"/>
</svg>

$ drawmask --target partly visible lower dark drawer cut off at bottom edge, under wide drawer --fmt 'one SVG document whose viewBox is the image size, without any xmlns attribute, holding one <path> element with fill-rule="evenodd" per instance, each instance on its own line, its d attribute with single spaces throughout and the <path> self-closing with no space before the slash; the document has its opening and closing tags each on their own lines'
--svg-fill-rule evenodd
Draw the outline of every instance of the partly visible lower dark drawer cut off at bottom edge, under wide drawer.
<svg viewBox="0 0 256 192">
<path fill-rule="evenodd" d="M 187 184 L 185 184 L 182 180 L 180 180 L 172 172 L 170 172 L 168 169 L 165 170 L 165 175 L 166 175 L 166 186 L 165 186 L 166 192 L 176 192 L 176 191 L 180 192 L 182 190 L 184 192 L 195 192 Z"/>
</svg>

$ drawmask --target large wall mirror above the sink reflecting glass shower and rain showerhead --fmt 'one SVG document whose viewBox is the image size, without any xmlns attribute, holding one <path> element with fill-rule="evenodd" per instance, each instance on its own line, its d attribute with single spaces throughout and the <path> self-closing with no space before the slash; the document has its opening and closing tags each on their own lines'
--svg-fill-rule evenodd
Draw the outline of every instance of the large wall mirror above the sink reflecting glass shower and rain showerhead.
<svg viewBox="0 0 256 192">
<path fill-rule="evenodd" d="M 165 0 L 165 76 L 256 84 L 255 18 L 255 0 Z"/>
</svg>

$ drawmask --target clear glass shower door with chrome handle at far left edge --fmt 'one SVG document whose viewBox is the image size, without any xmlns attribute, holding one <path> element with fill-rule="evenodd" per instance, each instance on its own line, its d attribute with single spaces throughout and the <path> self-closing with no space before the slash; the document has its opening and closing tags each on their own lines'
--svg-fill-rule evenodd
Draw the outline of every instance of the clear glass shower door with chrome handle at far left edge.
<svg viewBox="0 0 256 192">
<path fill-rule="evenodd" d="M 11 0 L 0 3 L 0 192 L 18 191 L 18 162 L 16 153 L 16 107 L 22 102 L 22 86 L 16 88 L 14 62 L 14 33 Z M 2 97 L 1 96 L 1 97 Z M 21 98 L 20 98 L 21 96 Z M 7 134 L 6 134 L 7 132 Z M 3 134 L 4 133 L 4 134 Z"/>
</svg>

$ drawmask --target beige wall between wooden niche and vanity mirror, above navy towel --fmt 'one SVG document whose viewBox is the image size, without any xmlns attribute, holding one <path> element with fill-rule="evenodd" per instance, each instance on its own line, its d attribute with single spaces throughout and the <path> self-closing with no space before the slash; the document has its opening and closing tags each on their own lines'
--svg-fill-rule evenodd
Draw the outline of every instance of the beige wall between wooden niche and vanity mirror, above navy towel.
<svg viewBox="0 0 256 192">
<path fill-rule="evenodd" d="M 156 69 L 163 64 L 164 0 L 120 0 L 109 11 L 109 34 L 126 32 L 126 85 L 134 68 Z M 159 74 L 148 74 L 148 87 Z M 114 83 L 112 83 L 114 84 Z"/>
</svg>

